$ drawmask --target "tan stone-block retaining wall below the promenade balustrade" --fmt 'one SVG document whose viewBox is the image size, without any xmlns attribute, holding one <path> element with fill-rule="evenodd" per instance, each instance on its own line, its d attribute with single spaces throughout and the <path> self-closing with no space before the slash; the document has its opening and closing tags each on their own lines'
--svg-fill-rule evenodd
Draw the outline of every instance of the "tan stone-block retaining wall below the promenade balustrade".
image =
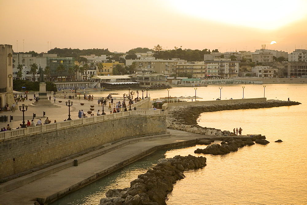
<svg viewBox="0 0 307 205">
<path fill-rule="evenodd" d="M 166 132 L 165 115 L 130 115 L 0 141 L 0 178 L 137 135 Z"/>
</svg>

